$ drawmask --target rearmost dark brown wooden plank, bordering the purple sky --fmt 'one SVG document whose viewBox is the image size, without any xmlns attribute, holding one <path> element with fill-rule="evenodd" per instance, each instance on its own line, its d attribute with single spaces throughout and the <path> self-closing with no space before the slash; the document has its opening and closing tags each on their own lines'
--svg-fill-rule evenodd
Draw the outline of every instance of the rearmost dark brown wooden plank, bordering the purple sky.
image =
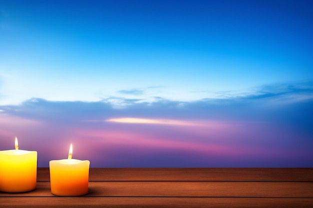
<svg viewBox="0 0 313 208">
<path fill-rule="evenodd" d="M 37 181 L 49 181 L 48 168 L 37 173 Z M 90 168 L 89 181 L 313 182 L 313 168 Z"/>
</svg>

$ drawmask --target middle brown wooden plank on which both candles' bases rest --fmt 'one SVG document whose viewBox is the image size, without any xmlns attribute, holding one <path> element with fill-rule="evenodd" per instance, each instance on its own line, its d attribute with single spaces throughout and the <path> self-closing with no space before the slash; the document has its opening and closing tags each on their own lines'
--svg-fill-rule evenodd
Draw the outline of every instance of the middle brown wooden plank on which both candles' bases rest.
<svg viewBox="0 0 313 208">
<path fill-rule="evenodd" d="M 32 192 L 0 197 L 54 197 L 49 182 Z M 311 182 L 89 182 L 84 197 L 263 197 L 313 198 Z"/>
</svg>

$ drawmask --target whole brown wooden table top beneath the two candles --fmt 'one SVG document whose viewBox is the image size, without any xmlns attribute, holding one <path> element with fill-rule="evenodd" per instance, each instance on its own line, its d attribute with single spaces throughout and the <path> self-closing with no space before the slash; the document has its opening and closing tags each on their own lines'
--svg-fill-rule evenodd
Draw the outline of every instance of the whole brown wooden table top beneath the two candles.
<svg viewBox="0 0 313 208">
<path fill-rule="evenodd" d="M 0 208 L 313 208 L 313 168 L 91 168 L 89 194 L 56 197 L 49 169 Z"/>
</svg>

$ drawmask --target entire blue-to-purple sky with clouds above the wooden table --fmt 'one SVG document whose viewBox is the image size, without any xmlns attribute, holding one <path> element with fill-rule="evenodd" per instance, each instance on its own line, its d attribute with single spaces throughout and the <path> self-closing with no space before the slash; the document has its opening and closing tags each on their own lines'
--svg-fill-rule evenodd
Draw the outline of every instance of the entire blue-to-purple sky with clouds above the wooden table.
<svg viewBox="0 0 313 208">
<path fill-rule="evenodd" d="M 313 1 L 0 0 L 0 150 L 313 167 Z"/>
</svg>

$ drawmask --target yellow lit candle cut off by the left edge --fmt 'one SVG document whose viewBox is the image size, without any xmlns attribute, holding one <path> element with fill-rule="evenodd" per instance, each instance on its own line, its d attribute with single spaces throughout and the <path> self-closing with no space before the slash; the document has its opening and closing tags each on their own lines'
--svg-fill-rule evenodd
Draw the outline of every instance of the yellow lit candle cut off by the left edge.
<svg viewBox="0 0 313 208">
<path fill-rule="evenodd" d="M 0 191 L 28 192 L 36 188 L 37 152 L 18 150 L 0 151 Z"/>
</svg>

